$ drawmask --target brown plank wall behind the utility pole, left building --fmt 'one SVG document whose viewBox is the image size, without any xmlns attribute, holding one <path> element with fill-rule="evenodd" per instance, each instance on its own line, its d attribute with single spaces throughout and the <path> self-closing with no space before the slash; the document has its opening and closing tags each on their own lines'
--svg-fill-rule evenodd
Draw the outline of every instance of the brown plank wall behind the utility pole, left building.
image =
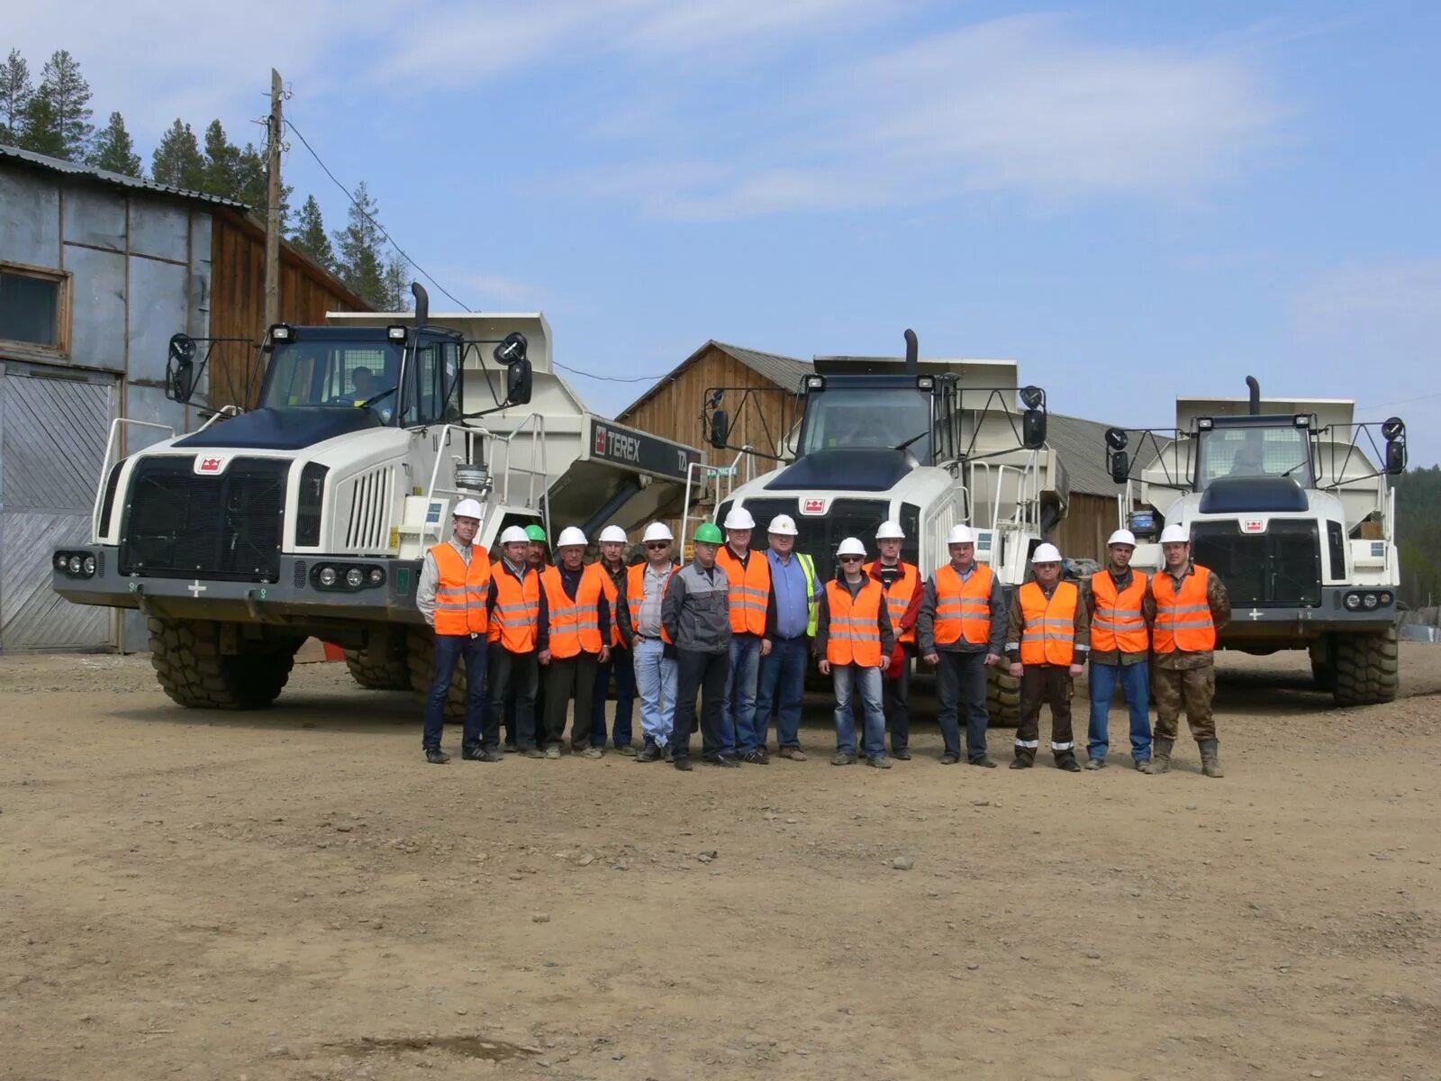
<svg viewBox="0 0 1441 1081">
<path fill-rule="evenodd" d="M 337 278 L 281 244 L 282 323 L 324 323 L 327 311 L 367 310 Z M 233 212 L 219 210 L 210 229 L 210 336 L 259 343 L 265 330 L 265 232 Z M 255 363 L 254 344 L 218 344 L 210 356 L 210 404 L 255 405 Z"/>
</svg>

